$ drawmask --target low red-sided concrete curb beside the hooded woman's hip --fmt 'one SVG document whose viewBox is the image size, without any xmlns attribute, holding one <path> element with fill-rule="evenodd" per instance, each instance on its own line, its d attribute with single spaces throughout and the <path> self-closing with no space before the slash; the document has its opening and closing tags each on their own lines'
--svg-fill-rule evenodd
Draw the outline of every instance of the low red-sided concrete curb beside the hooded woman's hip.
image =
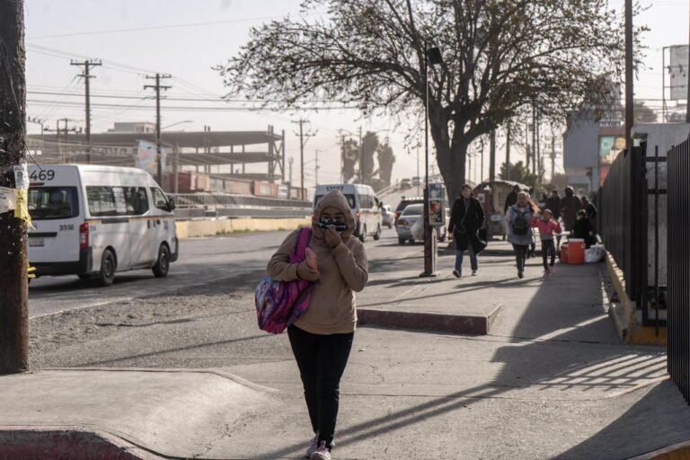
<svg viewBox="0 0 690 460">
<path fill-rule="evenodd" d="M 399 312 L 358 308 L 359 325 L 395 327 L 411 331 L 449 332 L 456 334 L 486 335 L 496 321 L 503 305 L 496 305 L 486 315 L 435 314 Z"/>
</svg>

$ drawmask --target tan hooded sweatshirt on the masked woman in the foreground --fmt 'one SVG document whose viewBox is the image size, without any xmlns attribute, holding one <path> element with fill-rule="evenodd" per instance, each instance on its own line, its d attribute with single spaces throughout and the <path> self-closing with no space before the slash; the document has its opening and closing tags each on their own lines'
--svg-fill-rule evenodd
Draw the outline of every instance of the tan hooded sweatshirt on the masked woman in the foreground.
<svg viewBox="0 0 690 460">
<path fill-rule="evenodd" d="M 342 234 L 342 243 L 331 249 L 325 240 L 323 229 L 317 225 L 324 208 L 333 207 L 342 211 L 347 219 L 348 229 Z M 321 278 L 315 282 L 309 309 L 298 318 L 295 325 L 314 334 L 348 333 L 357 325 L 357 310 L 354 291 L 361 291 L 367 284 L 367 254 L 364 245 L 352 237 L 355 231 L 355 217 L 348 200 L 340 190 L 332 190 L 323 196 L 314 208 L 312 217 L 312 240 L 309 247 L 316 254 Z M 296 230 L 280 245 L 268 265 L 270 278 L 278 281 L 297 279 L 297 264 L 289 263 L 290 254 L 295 252 Z"/>
</svg>

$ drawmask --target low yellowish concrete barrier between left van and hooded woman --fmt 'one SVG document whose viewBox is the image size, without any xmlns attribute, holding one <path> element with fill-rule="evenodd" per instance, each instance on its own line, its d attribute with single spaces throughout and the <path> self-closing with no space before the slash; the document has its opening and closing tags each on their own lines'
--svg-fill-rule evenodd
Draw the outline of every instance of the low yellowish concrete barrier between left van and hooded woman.
<svg viewBox="0 0 690 460">
<path fill-rule="evenodd" d="M 311 225 L 311 218 L 280 218 L 280 219 L 204 219 L 185 220 L 175 223 L 177 237 L 180 239 L 196 238 L 200 236 L 217 236 L 235 232 L 277 232 L 281 230 L 295 230 L 300 226 Z"/>
</svg>

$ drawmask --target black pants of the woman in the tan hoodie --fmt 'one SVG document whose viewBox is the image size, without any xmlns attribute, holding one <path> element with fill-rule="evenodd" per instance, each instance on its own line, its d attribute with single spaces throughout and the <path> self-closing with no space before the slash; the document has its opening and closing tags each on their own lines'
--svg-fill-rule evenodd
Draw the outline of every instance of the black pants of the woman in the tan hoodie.
<svg viewBox="0 0 690 460">
<path fill-rule="evenodd" d="M 331 447 L 338 418 L 341 377 L 348 364 L 349 350 L 355 333 L 320 335 L 292 325 L 288 337 L 295 354 L 302 385 L 305 387 L 306 408 L 319 444 Z"/>
</svg>

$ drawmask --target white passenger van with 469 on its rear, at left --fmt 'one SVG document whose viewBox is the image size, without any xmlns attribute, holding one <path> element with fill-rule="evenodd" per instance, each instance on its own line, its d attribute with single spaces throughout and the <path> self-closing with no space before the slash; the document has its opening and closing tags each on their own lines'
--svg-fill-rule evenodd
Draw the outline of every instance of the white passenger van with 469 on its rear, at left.
<svg viewBox="0 0 690 460">
<path fill-rule="evenodd" d="M 86 164 L 29 167 L 29 263 L 36 276 L 78 275 L 109 286 L 116 271 L 176 261 L 174 203 L 149 173 Z"/>
</svg>

